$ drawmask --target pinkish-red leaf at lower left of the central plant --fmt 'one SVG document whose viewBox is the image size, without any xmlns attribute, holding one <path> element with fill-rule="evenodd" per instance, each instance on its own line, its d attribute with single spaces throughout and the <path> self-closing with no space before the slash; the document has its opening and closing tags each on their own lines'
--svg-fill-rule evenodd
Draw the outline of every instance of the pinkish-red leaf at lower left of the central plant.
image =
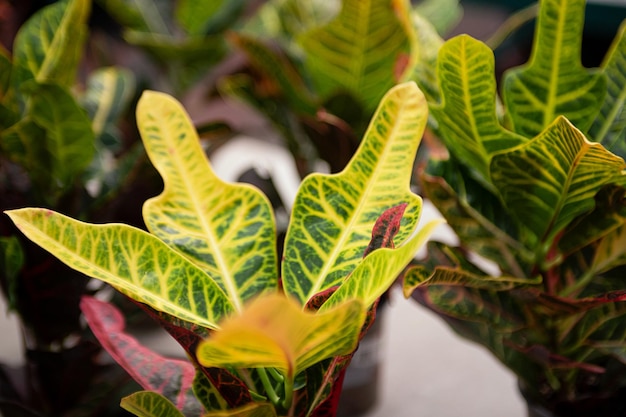
<svg viewBox="0 0 626 417">
<path fill-rule="evenodd" d="M 124 332 L 124 317 L 112 304 L 83 297 L 80 307 L 102 347 L 139 385 L 162 394 L 186 416 L 202 415 L 192 390 L 195 369 L 190 362 L 165 358 L 139 344 Z"/>
</svg>

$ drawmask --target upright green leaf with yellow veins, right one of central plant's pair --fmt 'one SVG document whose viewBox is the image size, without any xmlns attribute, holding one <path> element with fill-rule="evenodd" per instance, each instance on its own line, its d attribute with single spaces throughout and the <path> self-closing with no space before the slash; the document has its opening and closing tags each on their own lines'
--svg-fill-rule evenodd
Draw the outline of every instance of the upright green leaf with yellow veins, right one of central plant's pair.
<svg viewBox="0 0 626 417">
<path fill-rule="evenodd" d="M 415 227 L 421 198 L 411 193 L 409 181 L 426 118 L 424 96 L 414 83 L 394 87 L 348 166 L 302 182 L 285 238 L 282 279 L 285 291 L 303 305 L 361 262 L 386 209 L 408 203 L 399 242 Z"/>
</svg>

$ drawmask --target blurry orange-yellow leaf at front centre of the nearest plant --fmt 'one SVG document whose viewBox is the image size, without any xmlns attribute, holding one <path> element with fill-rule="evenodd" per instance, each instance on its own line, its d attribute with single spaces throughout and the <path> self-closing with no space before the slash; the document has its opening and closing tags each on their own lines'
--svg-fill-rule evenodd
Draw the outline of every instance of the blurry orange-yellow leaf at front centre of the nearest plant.
<svg viewBox="0 0 626 417">
<path fill-rule="evenodd" d="M 316 314 L 268 294 L 224 320 L 198 347 L 203 366 L 276 368 L 289 379 L 315 363 L 356 349 L 365 309 L 356 300 Z"/>
</svg>

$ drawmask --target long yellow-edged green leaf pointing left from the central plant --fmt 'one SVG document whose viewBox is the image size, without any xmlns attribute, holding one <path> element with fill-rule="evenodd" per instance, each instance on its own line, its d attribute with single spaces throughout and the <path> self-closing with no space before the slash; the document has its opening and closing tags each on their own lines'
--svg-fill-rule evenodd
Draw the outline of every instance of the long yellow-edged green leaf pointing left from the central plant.
<svg viewBox="0 0 626 417">
<path fill-rule="evenodd" d="M 73 269 L 156 310 L 211 329 L 233 311 L 206 273 L 140 229 L 83 223 L 46 209 L 6 213 L 26 237 Z"/>
</svg>

